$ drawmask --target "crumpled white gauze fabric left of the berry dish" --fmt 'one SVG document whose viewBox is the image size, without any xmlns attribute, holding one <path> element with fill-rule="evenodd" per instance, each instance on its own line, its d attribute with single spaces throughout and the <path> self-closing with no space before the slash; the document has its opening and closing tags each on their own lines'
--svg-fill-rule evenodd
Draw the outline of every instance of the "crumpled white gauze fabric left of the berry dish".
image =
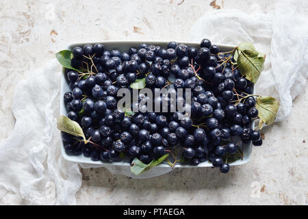
<svg viewBox="0 0 308 219">
<path fill-rule="evenodd" d="M 56 128 L 61 69 L 51 60 L 44 68 L 29 71 L 16 86 L 12 103 L 16 124 L 0 146 L 0 203 L 76 203 L 81 172 L 78 164 L 62 158 Z"/>
</svg>

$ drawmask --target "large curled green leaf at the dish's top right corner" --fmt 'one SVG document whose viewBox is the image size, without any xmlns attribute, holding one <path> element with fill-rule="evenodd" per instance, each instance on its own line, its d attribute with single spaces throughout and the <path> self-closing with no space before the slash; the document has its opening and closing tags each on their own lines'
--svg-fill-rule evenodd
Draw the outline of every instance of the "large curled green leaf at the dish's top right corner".
<svg viewBox="0 0 308 219">
<path fill-rule="evenodd" d="M 255 83 L 264 69 L 266 55 L 259 53 L 251 42 L 242 42 L 238 46 L 238 55 L 235 56 L 238 68 L 242 75 Z M 236 53 L 236 52 L 235 52 Z"/>
</svg>

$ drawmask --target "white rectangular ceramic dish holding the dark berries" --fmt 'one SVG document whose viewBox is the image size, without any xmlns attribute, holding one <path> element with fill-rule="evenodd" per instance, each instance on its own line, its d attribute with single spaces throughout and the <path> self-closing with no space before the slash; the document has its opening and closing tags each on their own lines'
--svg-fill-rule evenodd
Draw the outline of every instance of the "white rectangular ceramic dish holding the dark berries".
<svg viewBox="0 0 308 219">
<path fill-rule="evenodd" d="M 95 44 L 95 43 L 101 43 L 104 44 L 106 50 L 112 50 L 112 49 L 119 49 L 121 52 L 122 51 L 128 51 L 130 47 L 138 47 L 138 45 L 142 42 L 146 42 L 148 44 L 154 44 L 154 45 L 159 45 L 161 47 L 165 47 L 168 44 L 169 41 L 102 41 L 102 42 L 80 42 L 80 43 L 73 43 L 68 45 L 66 49 L 68 50 L 73 50 L 74 47 L 83 47 L 84 44 Z M 196 47 L 199 48 L 200 44 L 199 43 L 194 43 L 194 42 L 179 42 L 188 45 L 188 47 Z M 231 51 L 234 46 L 231 45 L 224 45 L 224 44 L 218 44 L 220 51 Z M 60 88 L 60 114 L 67 116 L 66 108 L 64 105 L 64 99 L 63 95 L 65 92 L 71 91 L 69 86 L 68 86 L 68 81 L 66 79 L 66 75 L 64 74 L 64 68 L 63 68 L 63 74 L 61 78 L 61 88 Z M 255 89 L 254 89 L 255 90 Z M 255 123 L 253 122 L 251 125 L 251 128 L 255 127 Z M 122 162 L 101 162 L 97 161 L 94 162 L 90 157 L 84 157 L 84 155 L 68 155 L 64 151 L 64 146 L 63 142 L 61 141 L 61 151 L 62 151 L 62 156 L 64 159 L 70 161 L 70 162 L 78 162 L 78 163 L 84 163 L 84 164 L 98 164 L 99 166 L 130 166 L 128 160 L 122 161 Z M 252 143 L 250 144 L 245 144 L 244 145 L 244 157 L 242 160 L 238 160 L 236 162 L 233 162 L 230 164 L 231 166 L 235 165 L 240 165 L 240 164 L 246 164 L 250 158 L 251 158 L 251 151 L 252 151 Z M 177 164 L 177 168 L 200 168 L 200 167 L 210 167 L 212 166 L 209 162 L 202 162 L 198 166 L 191 166 L 191 165 L 183 165 L 183 164 Z M 154 168 L 170 168 L 168 164 L 159 164 L 158 166 L 155 166 Z"/>
</svg>

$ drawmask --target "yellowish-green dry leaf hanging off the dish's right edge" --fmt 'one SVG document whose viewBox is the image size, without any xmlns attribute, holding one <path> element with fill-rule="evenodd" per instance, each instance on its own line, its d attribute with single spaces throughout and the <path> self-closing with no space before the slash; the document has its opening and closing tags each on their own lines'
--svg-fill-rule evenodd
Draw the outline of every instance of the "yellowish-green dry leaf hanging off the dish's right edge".
<svg viewBox="0 0 308 219">
<path fill-rule="evenodd" d="M 279 101 L 272 96 L 260 96 L 257 98 L 255 107 L 259 111 L 259 129 L 262 129 L 263 123 L 272 125 L 279 109 Z"/>
</svg>

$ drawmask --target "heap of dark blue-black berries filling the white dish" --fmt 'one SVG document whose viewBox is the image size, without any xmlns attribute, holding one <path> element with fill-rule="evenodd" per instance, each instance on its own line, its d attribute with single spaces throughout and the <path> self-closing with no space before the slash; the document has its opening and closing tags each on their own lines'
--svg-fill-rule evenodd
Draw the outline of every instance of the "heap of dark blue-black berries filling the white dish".
<svg viewBox="0 0 308 219">
<path fill-rule="evenodd" d="M 85 144 L 62 132 L 66 153 L 83 153 L 103 162 L 137 157 L 149 164 L 181 147 L 181 162 L 196 166 L 208 160 L 227 173 L 230 166 L 225 158 L 241 151 L 242 143 L 262 144 L 259 132 L 251 129 L 258 116 L 251 95 L 253 83 L 242 76 L 230 53 L 221 53 L 207 39 L 200 48 L 177 42 L 169 42 L 166 49 L 142 43 L 127 52 L 86 44 L 73 49 L 71 66 L 86 73 L 66 72 L 72 90 L 64 94 L 67 116 L 79 123 L 89 141 Z M 170 77 L 175 79 L 171 82 Z M 127 114 L 118 108 L 118 89 L 131 89 L 131 83 L 143 78 L 152 90 L 190 88 L 191 105 L 179 98 L 183 107 L 190 107 L 192 116 L 181 112 Z M 139 94 L 138 101 L 146 98 Z M 160 102 L 163 99 L 170 102 L 170 96 L 159 97 Z M 239 136 L 239 141 L 232 142 L 233 136 Z"/>
</svg>

